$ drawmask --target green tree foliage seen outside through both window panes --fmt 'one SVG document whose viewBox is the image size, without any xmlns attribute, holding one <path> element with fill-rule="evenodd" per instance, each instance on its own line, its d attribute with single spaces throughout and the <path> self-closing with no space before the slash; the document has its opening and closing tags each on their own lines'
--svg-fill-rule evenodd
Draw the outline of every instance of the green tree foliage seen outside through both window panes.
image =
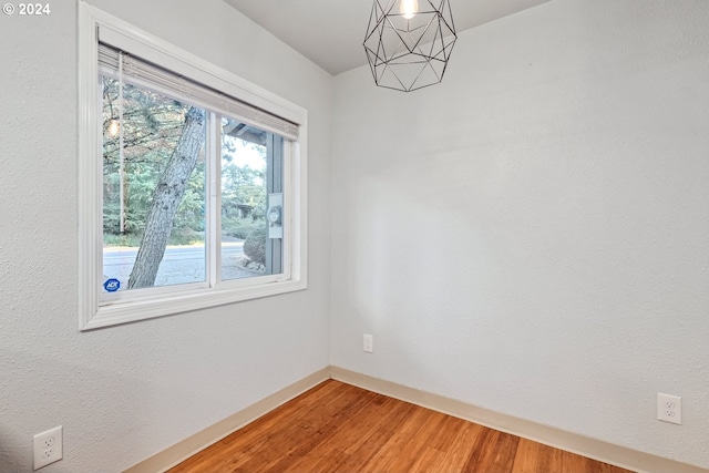
<svg viewBox="0 0 709 473">
<path fill-rule="evenodd" d="M 155 186 L 177 145 L 189 105 L 130 84 L 123 89 L 123 232 L 121 232 L 120 135 L 111 134 L 119 119 L 119 81 L 103 80 L 103 233 L 106 244 L 125 236 L 136 241 L 145 223 Z M 265 147 L 225 136 L 222 173 L 222 218 L 227 235 L 246 238 L 266 213 Z M 260 168 L 235 163 L 235 153 L 248 151 L 264 157 Z M 201 240 L 205 230 L 204 156 L 189 176 L 173 220 L 171 243 Z M 242 207 L 239 207 L 242 206 Z M 244 206 L 248 206 L 244 207 Z M 248 210 L 248 212 L 246 212 Z M 123 238 L 122 238 L 123 239 Z"/>
</svg>

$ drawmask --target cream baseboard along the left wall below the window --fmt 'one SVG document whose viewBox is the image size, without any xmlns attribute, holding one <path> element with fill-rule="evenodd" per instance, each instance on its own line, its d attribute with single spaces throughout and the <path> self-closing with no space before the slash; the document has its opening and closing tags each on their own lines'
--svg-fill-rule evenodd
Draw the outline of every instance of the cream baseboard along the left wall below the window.
<svg viewBox="0 0 709 473">
<path fill-rule="evenodd" d="M 330 369 L 323 368 L 268 398 L 229 415 L 223 421 L 168 446 L 162 452 L 136 463 L 123 473 L 163 473 L 329 378 Z"/>
</svg>

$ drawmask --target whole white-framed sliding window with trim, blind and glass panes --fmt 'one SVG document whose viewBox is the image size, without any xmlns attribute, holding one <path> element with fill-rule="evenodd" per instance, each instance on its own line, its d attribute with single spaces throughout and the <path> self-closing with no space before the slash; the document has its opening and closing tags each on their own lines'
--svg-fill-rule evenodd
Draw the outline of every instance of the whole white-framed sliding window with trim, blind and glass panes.
<svg viewBox="0 0 709 473">
<path fill-rule="evenodd" d="M 306 112 L 80 11 L 80 328 L 304 289 Z"/>
</svg>

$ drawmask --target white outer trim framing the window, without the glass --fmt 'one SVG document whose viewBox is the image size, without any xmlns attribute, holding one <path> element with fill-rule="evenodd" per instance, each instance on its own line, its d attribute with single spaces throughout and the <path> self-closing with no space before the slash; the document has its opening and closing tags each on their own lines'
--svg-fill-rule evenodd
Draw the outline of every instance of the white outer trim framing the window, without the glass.
<svg viewBox="0 0 709 473">
<path fill-rule="evenodd" d="M 156 61 L 176 72 L 188 68 L 198 71 L 191 79 L 238 97 L 254 106 L 299 125 L 294 143 L 289 181 L 291 192 L 284 195 L 289 208 L 289 268 L 286 279 L 250 278 L 244 285 L 217 285 L 185 292 L 156 295 L 114 305 L 100 305 L 97 261 L 103 255 L 101 133 L 99 88 L 97 29 L 107 29 L 132 42 L 145 59 Z M 103 31 L 103 30 L 102 30 Z M 167 62 L 167 63 L 165 63 Z M 308 287 L 307 271 L 307 111 L 194 54 L 157 39 L 133 25 L 91 7 L 79 3 L 79 329 L 164 317 L 207 307 L 302 290 Z M 286 184 L 286 183 L 285 183 Z"/>
</svg>

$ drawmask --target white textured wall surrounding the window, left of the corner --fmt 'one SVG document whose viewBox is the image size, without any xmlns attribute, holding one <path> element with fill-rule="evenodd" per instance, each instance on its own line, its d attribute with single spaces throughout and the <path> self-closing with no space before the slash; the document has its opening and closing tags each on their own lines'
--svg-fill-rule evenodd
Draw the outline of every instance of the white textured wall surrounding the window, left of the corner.
<svg viewBox="0 0 709 473">
<path fill-rule="evenodd" d="M 309 110 L 310 287 L 78 331 L 76 1 L 0 18 L 0 472 L 121 471 L 329 364 L 331 76 L 220 0 L 92 3 Z"/>
</svg>

